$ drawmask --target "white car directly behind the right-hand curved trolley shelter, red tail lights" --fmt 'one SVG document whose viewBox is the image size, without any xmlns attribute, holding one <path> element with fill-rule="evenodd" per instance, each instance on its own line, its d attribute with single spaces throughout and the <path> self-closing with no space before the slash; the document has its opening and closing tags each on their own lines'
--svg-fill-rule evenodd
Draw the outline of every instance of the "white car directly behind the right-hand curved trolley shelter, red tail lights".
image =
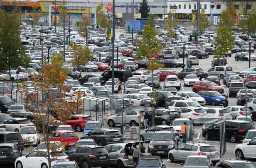
<svg viewBox="0 0 256 168">
<path fill-rule="evenodd" d="M 206 111 L 200 107 L 183 107 L 177 112 L 180 113 L 180 118 L 189 118 L 190 120 L 208 117 Z"/>
</svg>

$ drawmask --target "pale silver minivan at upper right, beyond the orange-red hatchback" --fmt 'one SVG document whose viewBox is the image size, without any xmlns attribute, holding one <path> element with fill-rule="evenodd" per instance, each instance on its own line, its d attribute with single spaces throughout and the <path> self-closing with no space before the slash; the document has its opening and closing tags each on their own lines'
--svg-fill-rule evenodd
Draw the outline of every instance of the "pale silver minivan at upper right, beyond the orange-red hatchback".
<svg viewBox="0 0 256 168">
<path fill-rule="evenodd" d="M 204 77 L 217 76 L 223 79 L 224 76 L 229 73 L 233 73 L 233 68 L 231 66 L 216 66 L 210 68 L 207 72 L 204 72 Z"/>
</svg>

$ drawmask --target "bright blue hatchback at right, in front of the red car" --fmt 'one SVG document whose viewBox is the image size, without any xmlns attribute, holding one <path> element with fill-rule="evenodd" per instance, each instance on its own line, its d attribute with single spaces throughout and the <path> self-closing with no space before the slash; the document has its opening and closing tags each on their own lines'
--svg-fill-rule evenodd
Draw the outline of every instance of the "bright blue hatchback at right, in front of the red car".
<svg viewBox="0 0 256 168">
<path fill-rule="evenodd" d="M 222 95 L 218 91 L 199 91 L 197 94 L 205 99 L 206 104 L 212 106 L 223 105 L 226 98 L 229 98 L 227 94 Z"/>
</svg>

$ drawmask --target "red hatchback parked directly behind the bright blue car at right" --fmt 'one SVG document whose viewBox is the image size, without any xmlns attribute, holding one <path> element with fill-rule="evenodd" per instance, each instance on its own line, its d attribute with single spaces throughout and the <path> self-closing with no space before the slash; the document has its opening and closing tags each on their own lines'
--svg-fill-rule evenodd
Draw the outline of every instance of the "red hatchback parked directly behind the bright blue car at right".
<svg viewBox="0 0 256 168">
<path fill-rule="evenodd" d="M 193 91 L 195 93 L 199 91 L 219 91 L 219 93 L 224 92 L 224 88 L 222 86 L 218 86 L 214 82 L 197 82 L 193 85 Z"/>
</svg>

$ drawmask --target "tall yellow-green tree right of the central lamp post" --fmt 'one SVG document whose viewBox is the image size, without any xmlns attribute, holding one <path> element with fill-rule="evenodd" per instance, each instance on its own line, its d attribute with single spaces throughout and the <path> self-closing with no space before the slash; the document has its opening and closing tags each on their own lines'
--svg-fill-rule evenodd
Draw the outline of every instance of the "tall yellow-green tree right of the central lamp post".
<svg viewBox="0 0 256 168">
<path fill-rule="evenodd" d="M 156 38 L 157 32 L 154 29 L 154 17 L 152 14 L 149 15 L 149 19 L 143 27 L 142 40 L 138 42 L 138 50 L 135 56 L 135 60 L 147 59 L 147 70 L 152 73 L 158 68 L 162 67 L 162 64 L 156 59 L 157 55 L 160 53 L 161 46 Z M 152 78 L 153 80 L 153 78 Z M 153 84 L 153 81 L 152 81 Z"/>
</svg>

